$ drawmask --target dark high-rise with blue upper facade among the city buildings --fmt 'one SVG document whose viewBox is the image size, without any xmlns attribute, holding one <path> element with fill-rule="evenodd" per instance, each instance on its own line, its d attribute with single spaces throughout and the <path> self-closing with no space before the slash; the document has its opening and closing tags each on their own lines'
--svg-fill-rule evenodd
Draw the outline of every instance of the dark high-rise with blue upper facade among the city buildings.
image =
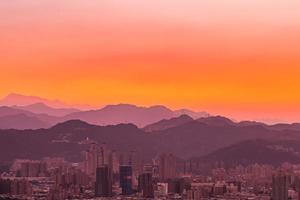
<svg viewBox="0 0 300 200">
<path fill-rule="evenodd" d="M 132 167 L 129 165 L 120 166 L 120 187 L 123 195 L 132 194 Z"/>
</svg>

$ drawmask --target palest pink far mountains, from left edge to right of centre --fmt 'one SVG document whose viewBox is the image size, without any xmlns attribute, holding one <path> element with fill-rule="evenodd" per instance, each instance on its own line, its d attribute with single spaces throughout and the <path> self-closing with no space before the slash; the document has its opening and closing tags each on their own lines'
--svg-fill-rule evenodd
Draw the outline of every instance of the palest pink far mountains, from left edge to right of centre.
<svg viewBox="0 0 300 200">
<path fill-rule="evenodd" d="M 209 116 L 205 112 L 194 112 L 187 109 L 173 111 L 165 106 L 139 107 L 130 104 L 107 105 L 100 109 L 81 111 L 75 108 L 61 107 L 65 104 L 59 101 L 18 94 L 8 95 L 0 100 L 0 105 L 2 105 L 0 116 L 4 117 L 0 118 L 0 129 L 49 128 L 56 123 L 73 119 L 96 125 L 132 123 L 138 127 L 144 127 L 162 119 L 170 119 L 185 113 L 195 118 Z M 26 121 L 26 118 L 29 122 L 34 122 L 34 118 L 36 122 L 28 122 L 26 126 L 19 124 L 20 121 Z"/>
</svg>

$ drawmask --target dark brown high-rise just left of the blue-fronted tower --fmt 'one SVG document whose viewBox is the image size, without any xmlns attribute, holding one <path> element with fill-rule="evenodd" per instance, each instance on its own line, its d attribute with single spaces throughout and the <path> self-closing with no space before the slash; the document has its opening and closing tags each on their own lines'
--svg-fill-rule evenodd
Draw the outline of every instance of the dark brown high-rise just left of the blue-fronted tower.
<svg viewBox="0 0 300 200">
<path fill-rule="evenodd" d="M 108 167 L 108 165 L 101 165 L 100 167 L 97 167 L 95 196 L 96 197 L 112 196 L 111 169 Z"/>
</svg>

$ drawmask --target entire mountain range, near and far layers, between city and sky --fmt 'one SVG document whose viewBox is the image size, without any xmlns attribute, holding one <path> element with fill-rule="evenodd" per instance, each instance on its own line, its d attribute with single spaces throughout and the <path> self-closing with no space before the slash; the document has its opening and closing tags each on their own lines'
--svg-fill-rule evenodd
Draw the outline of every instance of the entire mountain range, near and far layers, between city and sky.
<svg viewBox="0 0 300 200">
<path fill-rule="evenodd" d="M 0 107 L 1 162 L 45 156 L 81 161 L 93 141 L 120 152 L 137 151 L 146 161 L 159 153 L 172 153 L 194 163 L 195 170 L 216 163 L 224 167 L 300 163 L 298 123 L 236 122 L 205 112 L 130 104 L 81 111 L 26 100 Z"/>
</svg>

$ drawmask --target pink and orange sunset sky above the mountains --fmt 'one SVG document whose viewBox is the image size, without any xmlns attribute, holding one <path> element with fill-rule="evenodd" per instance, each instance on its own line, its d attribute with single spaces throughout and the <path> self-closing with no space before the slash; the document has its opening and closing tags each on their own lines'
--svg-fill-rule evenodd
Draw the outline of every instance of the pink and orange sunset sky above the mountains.
<svg viewBox="0 0 300 200">
<path fill-rule="evenodd" d="M 300 122 L 300 1 L 2 0 L 11 92 Z"/>
</svg>

